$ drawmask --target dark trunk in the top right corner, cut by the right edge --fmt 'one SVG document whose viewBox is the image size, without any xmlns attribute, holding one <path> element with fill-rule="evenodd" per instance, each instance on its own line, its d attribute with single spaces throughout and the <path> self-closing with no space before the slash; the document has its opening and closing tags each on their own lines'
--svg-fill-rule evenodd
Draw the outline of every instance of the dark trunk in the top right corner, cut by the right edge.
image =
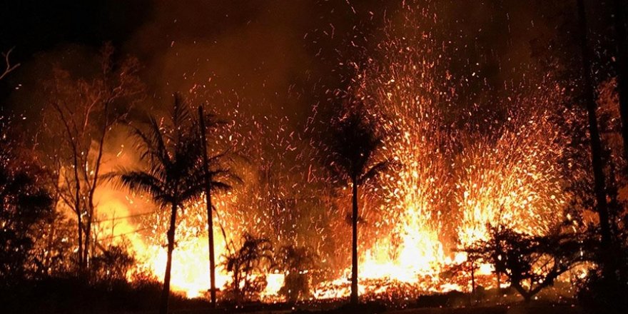
<svg viewBox="0 0 628 314">
<path fill-rule="evenodd" d="M 617 42 L 616 69 L 619 89 L 619 113 L 622 116 L 622 137 L 624 138 L 624 158 L 628 160 L 628 67 L 626 57 L 626 25 L 624 24 L 625 1 L 613 0 L 614 29 Z"/>
</svg>

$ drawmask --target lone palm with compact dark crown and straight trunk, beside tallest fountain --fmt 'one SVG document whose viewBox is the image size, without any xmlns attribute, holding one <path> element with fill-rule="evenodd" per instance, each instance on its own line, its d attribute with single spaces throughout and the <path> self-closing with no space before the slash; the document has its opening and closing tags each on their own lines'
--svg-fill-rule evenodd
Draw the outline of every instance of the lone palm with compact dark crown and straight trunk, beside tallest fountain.
<svg viewBox="0 0 628 314">
<path fill-rule="evenodd" d="M 382 137 L 362 103 L 351 103 L 333 123 L 328 153 L 331 170 L 353 186 L 353 230 L 351 246 L 351 303 L 358 303 L 358 187 L 388 167 L 388 161 L 375 163 Z"/>
</svg>

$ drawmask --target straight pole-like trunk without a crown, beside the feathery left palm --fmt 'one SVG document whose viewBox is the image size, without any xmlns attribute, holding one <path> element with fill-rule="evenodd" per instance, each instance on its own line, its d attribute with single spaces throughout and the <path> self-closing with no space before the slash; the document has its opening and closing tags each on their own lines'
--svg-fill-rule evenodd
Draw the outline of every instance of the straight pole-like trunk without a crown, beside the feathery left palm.
<svg viewBox="0 0 628 314">
<path fill-rule="evenodd" d="M 205 138 L 205 118 L 203 118 L 203 106 L 198 106 L 198 120 L 201 127 L 201 143 L 203 143 L 203 170 L 205 171 L 205 201 L 207 205 L 207 239 L 209 245 L 209 278 L 211 286 L 209 295 L 211 308 L 216 308 L 216 258 L 213 249 L 213 215 L 211 205 L 211 178 L 209 177 L 209 165 L 207 158 L 207 139 Z"/>
</svg>

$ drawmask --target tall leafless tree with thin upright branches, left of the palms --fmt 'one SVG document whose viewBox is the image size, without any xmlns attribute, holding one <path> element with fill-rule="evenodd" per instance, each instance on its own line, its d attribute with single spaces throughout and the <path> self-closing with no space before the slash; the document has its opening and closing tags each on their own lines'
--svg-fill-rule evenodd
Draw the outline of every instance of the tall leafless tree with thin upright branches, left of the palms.
<svg viewBox="0 0 628 314">
<path fill-rule="evenodd" d="M 96 211 L 94 195 L 101 183 L 108 132 L 143 91 L 138 69 L 138 62 L 132 58 L 114 64 L 113 46 L 106 44 L 96 77 L 73 78 L 69 71 L 55 69 L 54 78 L 46 83 L 49 108 L 56 113 L 60 126 L 54 130 L 59 133 L 51 136 L 62 139 L 54 154 L 59 170 L 59 198 L 76 214 L 81 273 L 88 267 L 90 251 L 96 246 L 91 238 Z"/>
</svg>

